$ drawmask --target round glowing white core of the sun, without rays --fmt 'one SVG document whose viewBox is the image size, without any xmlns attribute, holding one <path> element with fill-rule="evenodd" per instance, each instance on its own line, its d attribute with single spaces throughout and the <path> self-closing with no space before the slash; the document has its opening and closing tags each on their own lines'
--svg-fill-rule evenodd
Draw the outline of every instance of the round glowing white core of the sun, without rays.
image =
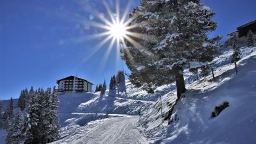
<svg viewBox="0 0 256 144">
<path fill-rule="evenodd" d="M 116 40 L 123 40 L 127 33 L 127 27 L 123 23 L 114 23 L 109 27 L 110 34 Z"/>
</svg>

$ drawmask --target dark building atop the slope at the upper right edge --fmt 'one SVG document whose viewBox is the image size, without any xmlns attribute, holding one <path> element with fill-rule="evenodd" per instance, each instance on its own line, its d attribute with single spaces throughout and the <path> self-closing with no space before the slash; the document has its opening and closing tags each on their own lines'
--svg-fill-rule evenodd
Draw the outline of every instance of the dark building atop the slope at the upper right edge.
<svg viewBox="0 0 256 144">
<path fill-rule="evenodd" d="M 246 36 L 249 30 L 253 32 L 253 36 L 256 39 L 256 20 L 251 21 L 250 23 L 241 25 L 240 27 L 237 27 L 237 31 L 227 34 L 227 40 L 231 41 L 232 38 L 237 34 L 239 38 L 239 42 L 246 43 Z"/>
</svg>

